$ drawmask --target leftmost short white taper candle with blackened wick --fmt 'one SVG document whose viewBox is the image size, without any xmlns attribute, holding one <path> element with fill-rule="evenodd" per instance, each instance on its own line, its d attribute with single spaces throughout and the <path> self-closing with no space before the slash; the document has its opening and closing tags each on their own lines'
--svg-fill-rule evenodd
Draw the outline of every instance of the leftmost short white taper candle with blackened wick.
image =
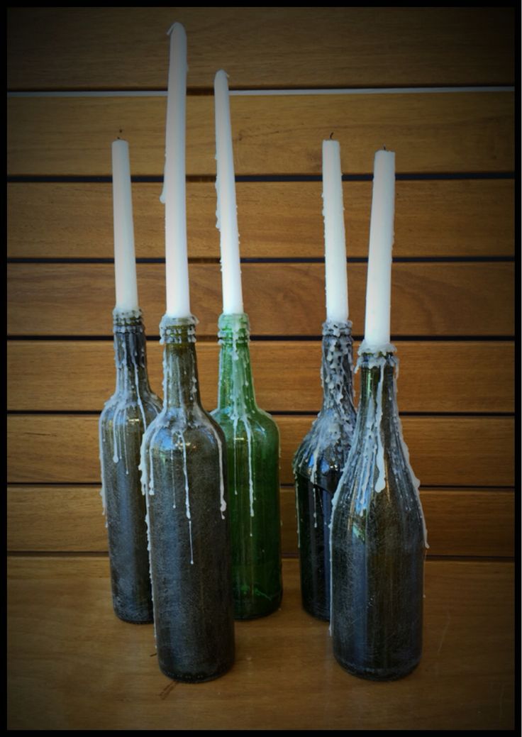
<svg viewBox="0 0 522 737">
<path fill-rule="evenodd" d="M 137 310 L 138 287 L 130 191 L 129 144 L 119 139 L 112 143 L 112 202 L 116 309 Z"/>
</svg>

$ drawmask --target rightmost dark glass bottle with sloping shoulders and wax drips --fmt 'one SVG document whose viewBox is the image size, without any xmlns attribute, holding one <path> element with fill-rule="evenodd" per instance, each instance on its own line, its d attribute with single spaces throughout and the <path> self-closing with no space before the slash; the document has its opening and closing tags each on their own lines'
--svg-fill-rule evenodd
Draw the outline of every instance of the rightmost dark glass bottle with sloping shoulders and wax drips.
<svg viewBox="0 0 522 737">
<path fill-rule="evenodd" d="M 331 523 L 333 653 L 349 673 L 406 676 L 422 651 L 425 525 L 391 353 L 363 353 L 352 451 Z"/>
</svg>

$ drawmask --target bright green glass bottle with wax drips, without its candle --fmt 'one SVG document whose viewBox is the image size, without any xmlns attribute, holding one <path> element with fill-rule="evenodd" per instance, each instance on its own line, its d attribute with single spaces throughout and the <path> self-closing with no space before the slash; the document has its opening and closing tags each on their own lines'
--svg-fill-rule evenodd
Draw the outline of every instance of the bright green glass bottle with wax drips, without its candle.
<svg viewBox="0 0 522 737">
<path fill-rule="evenodd" d="M 282 600 L 279 430 L 256 404 L 248 317 L 220 315 L 217 409 L 226 438 L 237 619 L 262 617 Z"/>
</svg>

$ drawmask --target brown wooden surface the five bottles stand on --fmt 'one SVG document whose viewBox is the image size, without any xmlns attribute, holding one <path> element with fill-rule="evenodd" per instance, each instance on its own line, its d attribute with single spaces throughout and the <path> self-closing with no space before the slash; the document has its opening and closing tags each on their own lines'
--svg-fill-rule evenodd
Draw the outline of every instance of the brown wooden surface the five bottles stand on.
<svg viewBox="0 0 522 737">
<path fill-rule="evenodd" d="M 9 562 L 10 729 L 498 730 L 514 727 L 513 566 L 428 561 L 420 666 L 379 684 L 335 663 L 328 625 L 301 609 L 298 562 L 282 608 L 236 623 L 236 663 L 201 685 L 159 671 L 153 626 L 112 611 L 108 559 Z"/>
</svg>

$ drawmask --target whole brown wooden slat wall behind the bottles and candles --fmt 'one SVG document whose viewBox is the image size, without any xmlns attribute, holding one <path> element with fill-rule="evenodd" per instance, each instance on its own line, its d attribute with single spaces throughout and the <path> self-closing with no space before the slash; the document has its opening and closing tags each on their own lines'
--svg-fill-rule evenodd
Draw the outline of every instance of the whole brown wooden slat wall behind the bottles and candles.
<svg viewBox="0 0 522 737">
<path fill-rule="evenodd" d="M 391 332 L 429 552 L 513 556 L 513 20 L 509 7 L 9 10 L 10 551 L 106 551 L 97 419 L 114 388 L 118 135 L 130 144 L 139 296 L 161 392 L 166 32 L 180 21 L 203 405 L 216 399 L 212 84 L 225 69 L 254 382 L 282 436 L 285 555 L 297 553 L 290 461 L 321 402 L 321 141 L 333 133 L 356 346 L 373 156 L 396 152 Z"/>
</svg>

